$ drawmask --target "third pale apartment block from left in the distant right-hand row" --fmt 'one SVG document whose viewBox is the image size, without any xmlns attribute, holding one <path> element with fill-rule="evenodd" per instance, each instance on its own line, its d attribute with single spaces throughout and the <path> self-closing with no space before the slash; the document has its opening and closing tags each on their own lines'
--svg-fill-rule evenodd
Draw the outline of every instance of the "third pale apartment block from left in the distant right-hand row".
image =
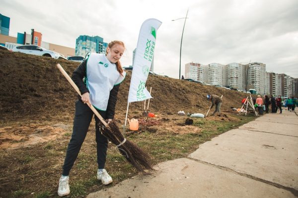
<svg viewBox="0 0 298 198">
<path fill-rule="evenodd" d="M 240 63 L 229 63 L 226 65 L 227 86 L 244 90 L 245 89 L 245 66 Z"/>
</svg>

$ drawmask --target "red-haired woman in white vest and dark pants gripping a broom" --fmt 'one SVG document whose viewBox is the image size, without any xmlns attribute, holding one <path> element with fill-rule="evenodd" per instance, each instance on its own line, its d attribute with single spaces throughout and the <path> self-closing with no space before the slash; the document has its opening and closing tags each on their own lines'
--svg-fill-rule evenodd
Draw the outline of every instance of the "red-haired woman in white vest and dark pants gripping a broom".
<svg viewBox="0 0 298 198">
<path fill-rule="evenodd" d="M 106 54 L 91 53 L 72 75 L 74 83 L 79 88 L 81 97 L 75 102 L 75 115 L 73 134 L 67 148 L 63 165 L 62 176 L 59 180 L 58 195 L 60 197 L 70 194 L 69 173 L 74 165 L 81 145 L 86 137 L 93 112 L 88 104 L 92 104 L 107 122 L 112 121 L 115 114 L 115 105 L 120 83 L 125 78 L 125 71 L 119 59 L 125 46 L 121 41 L 109 43 Z M 108 139 L 100 132 L 100 120 L 95 117 L 95 136 L 97 144 L 97 179 L 102 184 L 113 182 L 111 176 L 104 169 L 108 148 Z"/>
</svg>

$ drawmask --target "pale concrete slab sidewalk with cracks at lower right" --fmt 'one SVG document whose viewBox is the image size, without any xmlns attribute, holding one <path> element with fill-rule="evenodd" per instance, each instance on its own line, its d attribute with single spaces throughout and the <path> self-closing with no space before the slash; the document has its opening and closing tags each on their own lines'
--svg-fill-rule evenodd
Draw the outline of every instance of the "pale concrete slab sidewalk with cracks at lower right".
<svg viewBox="0 0 298 198">
<path fill-rule="evenodd" d="M 87 198 L 295 198 L 298 116 L 266 114 Z"/>
</svg>

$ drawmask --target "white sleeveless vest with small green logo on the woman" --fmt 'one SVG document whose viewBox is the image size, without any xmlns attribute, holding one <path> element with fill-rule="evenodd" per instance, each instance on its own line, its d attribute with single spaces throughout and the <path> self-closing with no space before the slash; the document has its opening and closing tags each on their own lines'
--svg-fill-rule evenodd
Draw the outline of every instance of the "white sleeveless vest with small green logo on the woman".
<svg viewBox="0 0 298 198">
<path fill-rule="evenodd" d="M 91 104 L 102 111 L 106 111 L 110 91 L 125 78 L 117 71 L 116 64 L 111 63 L 105 54 L 91 53 L 86 66 L 86 86 L 90 92 Z"/>
</svg>

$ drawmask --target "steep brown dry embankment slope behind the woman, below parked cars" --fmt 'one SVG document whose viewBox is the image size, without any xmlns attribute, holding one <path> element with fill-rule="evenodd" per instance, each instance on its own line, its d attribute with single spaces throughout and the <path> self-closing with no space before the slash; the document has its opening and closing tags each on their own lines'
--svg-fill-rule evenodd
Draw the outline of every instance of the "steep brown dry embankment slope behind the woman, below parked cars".
<svg viewBox="0 0 298 198">
<path fill-rule="evenodd" d="M 56 68 L 60 63 L 70 75 L 79 63 L 68 60 L 28 55 L 0 50 L 0 119 L 65 119 L 73 116 L 76 94 L 65 77 Z M 123 118 L 131 71 L 121 84 L 117 101 L 117 114 Z M 177 114 L 177 111 L 206 113 L 210 101 L 208 94 L 224 95 L 222 109 L 241 106 L 244 93 L 206 86 L 184 80 L 149 75 L 147 86 L 152 87 L 150 111 L 163 114 Z M 130 105 L 130 115 L 142 110 L 142 102 Z M 63 116 L 63 117 L 60 117 Z M 60 117 L 60 118 L 59 118 Z"/>
</svg>

